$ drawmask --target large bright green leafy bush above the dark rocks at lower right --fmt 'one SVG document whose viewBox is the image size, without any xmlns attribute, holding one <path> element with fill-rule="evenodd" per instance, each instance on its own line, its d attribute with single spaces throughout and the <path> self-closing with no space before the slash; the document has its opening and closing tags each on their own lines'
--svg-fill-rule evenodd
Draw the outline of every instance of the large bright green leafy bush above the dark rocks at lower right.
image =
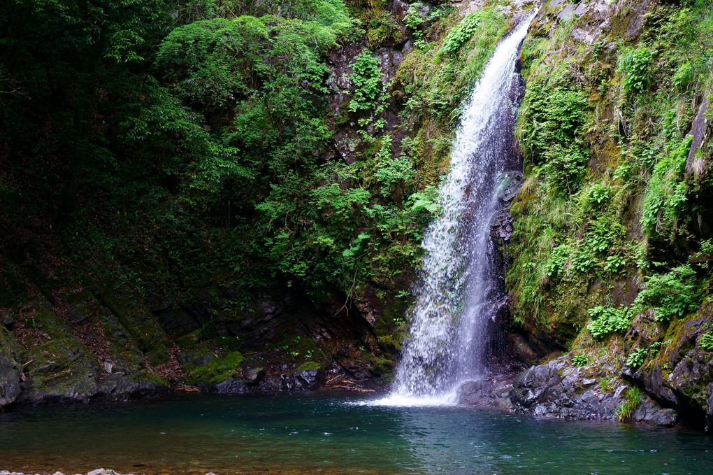
<svg viewBox="0 0 713 475">
<path fill-rule="evenodd" d="M 675 267 L 671 272 L 647 277 L 645 288 L 634 301 L 637 312 L 653 309 L 656 320 L 664 322 L 672 317 L 682 317 L 696 310 L 702 300 L 696 272 L 688 264 Z"/>
</svg>

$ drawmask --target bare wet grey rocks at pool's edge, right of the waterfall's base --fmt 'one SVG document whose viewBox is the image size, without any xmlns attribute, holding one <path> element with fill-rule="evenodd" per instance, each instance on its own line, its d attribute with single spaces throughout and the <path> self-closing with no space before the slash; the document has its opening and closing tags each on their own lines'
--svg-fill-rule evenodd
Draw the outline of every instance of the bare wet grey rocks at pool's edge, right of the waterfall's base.
<svg viewBox="0 0 713 475">
<path fill-rule="evenodd" d="M 625 402 L 627 384 L 602 378 L 595 369 L 573 366 L 568 357 L 533 366 L 518 374 L 510 399 L 518 414 L 565 419 L 613 419 Z M 648 397 L 642 397 L 631 414 L 634 422 L 661 427 L 677 423 L 673 409 L 665 409 Z"/>
</svg>

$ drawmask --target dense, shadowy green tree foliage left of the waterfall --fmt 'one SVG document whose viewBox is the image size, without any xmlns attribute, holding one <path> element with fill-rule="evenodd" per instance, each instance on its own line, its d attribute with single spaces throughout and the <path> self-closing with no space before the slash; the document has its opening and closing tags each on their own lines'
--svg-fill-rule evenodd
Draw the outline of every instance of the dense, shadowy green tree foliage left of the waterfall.
<svg viewBox="0 0 713 475">
<path fill-rule="evenodd" d="M 309 292 L 349 292 L 374 255 L 416 255 L 432 192 L 408 157 L 391 160 L 371 54 L 357 58 L 363 86 L 349 108 L 371 150 L 329 159 L 343 119 L 327 111 L 325 55 L 360 31 L 342 1 L 1 9 L 11 228 L 41 217 L 76 252 L 120 263 L 164 252 L 182 279 L 221 267 L 245 288 L 277 273 Z"/>
</svg>

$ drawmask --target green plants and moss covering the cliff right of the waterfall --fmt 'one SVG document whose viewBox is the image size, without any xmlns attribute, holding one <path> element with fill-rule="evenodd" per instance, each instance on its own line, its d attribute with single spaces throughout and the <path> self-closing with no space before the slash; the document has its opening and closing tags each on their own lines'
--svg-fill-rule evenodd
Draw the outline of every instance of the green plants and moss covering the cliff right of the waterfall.
<svg viewBox="0 0 713 475">
<path fill-rule="evenodd" d="M 637 39 L 615 26 L 605 41 L 619 45 L 621 59 L 615 48 L 585 51 L 575 40 L 573 29 L 588 21 L 535 20 L 520 55 L 525 176 L 511 205 L 506 284 L 515 320 L 563 341 L 601 302 L 614 308 L 603 305 L 589 322 L 599 339 L 626 331 L 645 309 L 660 309 L 662 321 L 692 312 L 710 279 L 708 255 L 696 244 L 710 237 L 711 188 L 702 185 L 710 144 L 704 139 L 687 165 L 686 136 L 697 97 L 713 84 L 704 66 L 713 58 L 713 10 L 707 1 L 657 4 Z M 657 276 L 687 253 L 697 276 Z M 638 303 L 647 305 L 617 308 L 632 300 L 636 282 L 650 279 L 665 290 L 642 293 Z"/>
</svg>

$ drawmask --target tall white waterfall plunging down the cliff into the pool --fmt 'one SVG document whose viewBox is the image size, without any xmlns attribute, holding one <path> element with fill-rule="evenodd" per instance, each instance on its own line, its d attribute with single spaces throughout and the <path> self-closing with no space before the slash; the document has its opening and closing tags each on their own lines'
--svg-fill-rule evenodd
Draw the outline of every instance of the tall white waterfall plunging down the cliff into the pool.
<svg viewBox="0 0 713 475">
<path fill-rule="evenodd" d="M 498 44 L 463 108 L 431 224 L 416 307 L 386 404 L 455 402 L 459 383 L 483 377 L 489 319 L 502 297 L 491 222 L 513 154 L 519 46 L 528 15 Z"/>
</svg>

